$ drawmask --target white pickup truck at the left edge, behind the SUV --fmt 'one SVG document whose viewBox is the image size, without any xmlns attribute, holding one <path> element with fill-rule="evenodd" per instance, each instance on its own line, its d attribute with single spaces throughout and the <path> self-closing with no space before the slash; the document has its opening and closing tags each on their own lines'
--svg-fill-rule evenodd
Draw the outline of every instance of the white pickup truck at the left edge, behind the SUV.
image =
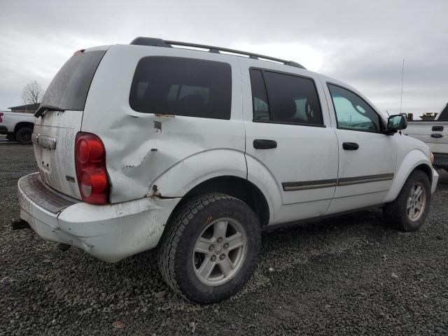
<svg viewBox="0 0 448 336">
<path fill-rule="evenodd" d="M 0 112 L 0 134 L 10 141 L 31 144 L 34 116 L 31 113 Z"/>
</svg>

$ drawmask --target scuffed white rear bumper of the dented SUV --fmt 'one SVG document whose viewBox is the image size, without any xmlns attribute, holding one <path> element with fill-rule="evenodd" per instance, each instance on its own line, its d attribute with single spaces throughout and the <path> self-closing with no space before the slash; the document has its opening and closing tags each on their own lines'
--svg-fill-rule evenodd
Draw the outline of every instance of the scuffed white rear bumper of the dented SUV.
<svg viewBox="0 0 448 336">
<path fill-rule="evenodd" d="M 146 197 L 104 206 L 79 201 L 66 204 L 64 195 L 51 190 L 52 197 L 60 198 L 63 204 L 52 204 L 59 206 L 51 209 L 57 212 L 52 212 L 39 197 L 41 193 L 37 189 L 41 187 L 38 183 L 29 183 L 40 180 L 36 174 L 24 176 L 18 182 L 20 218 L 44 240 L 78 246 L 108 262 L 157 246 L 165 223 L 180 200 Z M 48 187 L 43 188 L 48 193 Z M 45 201 L 48 203 L 48 197 Z"/>
</svg>

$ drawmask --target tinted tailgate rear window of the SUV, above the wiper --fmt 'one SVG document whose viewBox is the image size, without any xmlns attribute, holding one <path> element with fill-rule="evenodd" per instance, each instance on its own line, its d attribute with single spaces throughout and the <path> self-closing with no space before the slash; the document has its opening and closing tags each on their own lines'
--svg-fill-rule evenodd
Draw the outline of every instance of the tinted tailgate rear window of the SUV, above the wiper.
<svg viewBox="0 0 448 336">
<path fill-rule="evenodd" d="M 95 50 L 72 56 L 56 73 L 41 104 L 82 111 L 90 83 L 105 53 L 106 50 Z"/>
</svg>

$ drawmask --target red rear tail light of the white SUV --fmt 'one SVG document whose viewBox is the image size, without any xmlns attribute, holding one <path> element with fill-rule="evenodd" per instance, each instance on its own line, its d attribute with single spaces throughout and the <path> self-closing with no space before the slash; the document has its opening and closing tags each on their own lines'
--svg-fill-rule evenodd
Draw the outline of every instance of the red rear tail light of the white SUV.
<svg viewBox="0 0 448 336">
<path fill-rule="evenodd" d="M 109 198 L 109 179 L 103 141 L 92 133 L 76 134 L 75 163 L 76 179 L 83 202 L 106 204 Z"/>
</svg>

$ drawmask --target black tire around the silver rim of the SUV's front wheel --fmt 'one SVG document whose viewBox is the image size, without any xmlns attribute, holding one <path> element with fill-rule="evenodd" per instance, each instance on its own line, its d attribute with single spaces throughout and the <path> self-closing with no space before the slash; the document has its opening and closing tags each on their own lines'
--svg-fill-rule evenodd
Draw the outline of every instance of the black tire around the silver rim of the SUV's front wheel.
<svg viewBox="0 0 448 336">
<path fill-rule="evenodd" d="M 411 193 L 411 189 L 419 183 L 424 188 L 426 193 L 425 206 L 419 218 L 412 221 L 408 216 L 407 202 L 408 197 Z M 407 178 L 405 185 L 401 188 L 398 197 L 391 203 L 386 204 L 383 208 L 384 218 L 386 219 L 387 225 L 391 226 L 400 231 L 413 232 L 419 230 L 421 225 L 425 223 L 426 217 L 428 216 L 431 203 L 431 185 L 426 175 L 421 170 L 414 170 L 412 174 Z"/>
</svg>

